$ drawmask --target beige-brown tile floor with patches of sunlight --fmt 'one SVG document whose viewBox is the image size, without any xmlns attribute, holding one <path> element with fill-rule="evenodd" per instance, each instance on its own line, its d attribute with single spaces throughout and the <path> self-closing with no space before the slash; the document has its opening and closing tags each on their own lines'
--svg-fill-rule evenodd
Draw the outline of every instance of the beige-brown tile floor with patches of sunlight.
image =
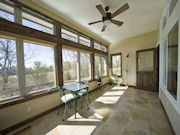
<svg viewBox="0 0 180 135">
<path fill-rule="evenodd" d="M 30 123 L 22 135 L 172 135 L 157 93 L 108 85 L 90 100 L 90 110 L 78 101 L 77 119 L 71 104 L 66 121 L 60 108 Z"/>
</svg>

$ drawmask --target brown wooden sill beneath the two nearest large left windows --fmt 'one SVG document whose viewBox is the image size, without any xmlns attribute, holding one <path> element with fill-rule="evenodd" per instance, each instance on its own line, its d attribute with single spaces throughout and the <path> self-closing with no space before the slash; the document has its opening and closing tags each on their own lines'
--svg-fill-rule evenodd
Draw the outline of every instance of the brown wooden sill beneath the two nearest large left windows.
<svg viewBox="0 0 180 135">
<path fill-rule="evenodd" d="M 29 101 L 29 100 L 32 100 L 32 99 L 35 99 L 35 98 L 40 98 L 42 96 L 46 96 L 46 95 L 53 94 L 53 93 L 56 93 L 56 92 L 58 92 L 58 89 L 57 88 L 52 88 L 52 89 L 49 89 L 49 90 L 43 90 L 43 91 L 35 92 L 33 94 L 28 94 L 26 96 L 20 96 L 20 97 L 11 98 L 11 99 L 0 102 L 0 109 L 9 107 L 11 105 L 16 105 L 16 104 L 19 104 L 19 103 L 23 103 L 23 102 L 26 102 L 26 101 Z"/>
</svg>

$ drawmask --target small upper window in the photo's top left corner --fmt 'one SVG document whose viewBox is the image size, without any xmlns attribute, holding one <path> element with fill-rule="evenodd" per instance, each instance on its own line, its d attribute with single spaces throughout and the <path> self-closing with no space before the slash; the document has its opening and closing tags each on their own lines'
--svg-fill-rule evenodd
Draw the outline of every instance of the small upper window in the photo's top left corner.
<svg viewBox="0 0 180 135">
<path fill-rule="evenodd" d="M 0 2 L 0 17 L 14 22 L 14 8 Z"/>
</svg>

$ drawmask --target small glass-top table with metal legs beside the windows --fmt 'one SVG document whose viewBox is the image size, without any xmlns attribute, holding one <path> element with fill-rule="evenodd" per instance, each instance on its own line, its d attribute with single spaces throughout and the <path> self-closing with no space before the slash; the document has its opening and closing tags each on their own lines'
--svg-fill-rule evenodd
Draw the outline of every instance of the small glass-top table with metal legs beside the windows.
<svg viewBox="0 0 180 135">
<path fill-rule="evenodd" d="M 78 92 L 86 89 L 87 90 L 87 107 L 89 109 L 88 106 L 88 85 L 86 84 L 80 84 L 80 83 L 69 83 L 69 84 L 65 84 L 62 86 L 63 90 L 67 90 L 70 91 L 71 93 L 75 94 L 76 96 L 78 96 Z M 76 113 L 77 113 L 77 98 L 75 98 L 75 119 L 76 119 Z"/>
</svg>

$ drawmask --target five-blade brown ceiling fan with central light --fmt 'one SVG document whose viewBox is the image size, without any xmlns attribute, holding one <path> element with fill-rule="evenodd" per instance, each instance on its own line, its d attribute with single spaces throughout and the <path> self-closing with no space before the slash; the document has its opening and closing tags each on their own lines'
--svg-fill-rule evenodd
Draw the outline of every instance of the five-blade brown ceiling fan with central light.
<svg viewBox="0 0 180 135">
<path fill-rule="evenodd" d="M 99 12 L 102 14 L 102 20 L 100 21 L 95 21 L 95 22 L 91 22 L 91 23 L 88 23 L 89 25 L 92 25 L 92 24 L 95 24 L 95 23 L 100 23 L 100 22 L 103 22 L 104 25 L 103 25 L 103 28 L 101 30 L 101 32 L 105 31 L 106 30 L 106 27 L 110 24 L 110 23 L 113 23 L 113 24 L 116 24 L 118 26 L 121 26 L 123 24 L 123 22 L 121 21 L 117 21 L 117 20 L 113 20 L 112 18 L 114 18 L 115 16 L 121 14 L 122 12 L 124 12 L 125 10 L 127 10 L 129 8 L 129 5 L 128 3 L 124 4 L 122 7 L 120 7 L 118 10 L 116 10 L 114 13 L 110 13 L 108 12 L 109 10 L 109 7 L 105 7 L 105 11 L 102 7 L 102 5 L 97 5 L 96 8 L 99 10 Z"/>
</svg>

